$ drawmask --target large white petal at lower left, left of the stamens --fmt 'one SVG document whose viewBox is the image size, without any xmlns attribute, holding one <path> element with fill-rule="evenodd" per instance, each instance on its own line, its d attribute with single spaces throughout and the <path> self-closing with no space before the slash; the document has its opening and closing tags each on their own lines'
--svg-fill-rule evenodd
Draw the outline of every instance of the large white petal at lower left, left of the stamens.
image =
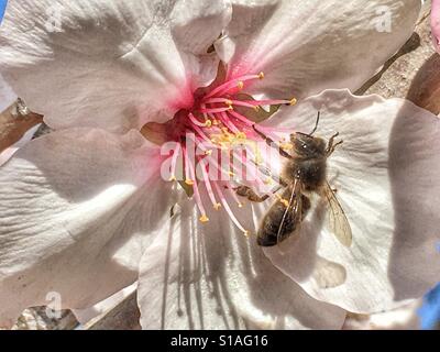
<svg viewBox="0 0 440 352">
<path fill-rule="evenodd" d="M 138 277 L 167 217 L 157 147 L 135 131 L 73 129 L 34 140 L 0 167 L 0 326 L 30 306 L 86 308 Z"/>
</svg>

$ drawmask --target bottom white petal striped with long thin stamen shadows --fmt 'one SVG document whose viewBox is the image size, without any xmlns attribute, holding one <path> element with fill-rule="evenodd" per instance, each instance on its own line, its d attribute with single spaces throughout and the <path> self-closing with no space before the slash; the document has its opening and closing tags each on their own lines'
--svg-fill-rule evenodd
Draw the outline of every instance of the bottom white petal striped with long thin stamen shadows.
<svg viewBox="0 0 440 352">
<path fill-rule="evenodd" d="M 252 221 L 250 208 L 235 211 Z M 206 224 L 198 217 L 187 201 L 144 253 L 138 296 L 143 328 L 341 328 L 343 310 L 309 297 L 223 211 Z"/>
</svg>

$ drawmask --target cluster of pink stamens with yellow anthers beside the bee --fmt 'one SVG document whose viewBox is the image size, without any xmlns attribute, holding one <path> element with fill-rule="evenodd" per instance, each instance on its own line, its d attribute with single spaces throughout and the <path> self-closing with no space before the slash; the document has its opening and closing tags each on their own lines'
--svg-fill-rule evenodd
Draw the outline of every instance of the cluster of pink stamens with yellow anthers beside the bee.
<svg viewBox="0 0 440 352">
<path fill-rule="evenodd" d="M 238 207 L 242 207 L 243 204 L 238 197 L 237 193 L 232 189 L 232 185 L 238 184 L 238 179 L 242 182 L 244 178 L 246 184 L 251 187 L 265 187 L 270 185 L 273 179 L 273 173 L 270 165 L 264 164 L 262 158 L 261 150 L 258 148 L 258 142 L 262 140 L 262 135 L 257 134 L 253 127 L 254 121 L 251 121 L 246 114 L 246 109 L 243 110 L 243 114 L 235 111 L 235 107 L 251 108 L 258 111 L 262 107 L 266 106 L 279 106 L 279 105 L 295 105 L 296 99 L 262 99 L 253 100 L 252 98 L 242 99 L 243 96 L 238 95 L 244 86 L 248 86 L 248 81 L 264 79 L 264 73 L 257 75 L 244 75 L 237 77 L 228 81 L 223 81 L 220 86 L 212 89 L 205 97 L 195 98 L 195 110 L 188 111 L 187 114 L 176 116 L 176 119 L 182 117 L 178 123 L 182 123 L 185 128 L 178 128 L 178 139 L 175 140 L 180 143 L 174 151 L 172 157 L 172 177 L 170 180 L 176 179 L 175 173 L 177 172 L 177 161 L 179 156 L 184 160 L 184 178 L 188 186 L 193 187 L 194 199 L 196 206 L 200 212 L 199 220 L 201 222 L 209 221 L 208 215 L 204 207 L 204 201 L 200 195 L 200 184 L 196 179 L 196 165 L 198 162 L 201 167 L 202 182 L 205 184 L 206 191 L 209 196 L 210 202 L 213 209 L 219 210 L 221 207 L 224 208 L 232 222 L 243 232 L 244 235 L 250 235 L 250 232 L 243 228 L 238 218 L 231 210 L 228 199 L 237 202 Z M 249 100 L 246 100 L 249 99 Z M 239 109 L 239 108 L 237 108 Z M 240 110 L 240 109 L 239 109 Z M 196 112 L 195 112 L 196 111 Z M 272 112 L 272 111 L 271 111 Z M 293 145 L 288 140 L 279 142 L 278 135 L 292 134 L 290 129 L 260 127 L 264 135 L 267 135 L 285 148 L 292 148 Z M 180 135 L 180 131 L 183 132 Z M 172 134 L 174 135 L 174 133 Z M 189 151 L 185 147 L 185 140 L 190 139 L 194 141 L 198 148 L 197 155 L 189 154 Z M 264 138 L 263 138 L 264 140 Z M 244 146 L 241 152 L 234 150 L 234 145 Z M 202 152 L 201 155 L 199 152 Z M 227 154 L 224 154 L 224 152 Z M 215 153 L 216 152 L 216 153 Z M 221 155 L 218 155 L 218 152 Z M 223 161 L 223 155 L 227 156 L 227 161 Z M 190 157 L 196 157 L 195 161 L 190 161 Z M 220 162 L 219 157 L 222 162 Z M 223 163 L 224 162 L 224 163 Z M 262 163 L 263 162 L 263 163 Z M 199 172 L 199 169 L 197 169 Z M 221 177 L 223 182 L 211 180 Z M 227 191 L 223 190 L 228 189 Z M 261 188 L 263 189 L 263 188 Z M 224 194 L 223 194 L 224 191 Z M 217 195 L 216 195 L 217 194 Z M 218 201 L 219 200 L 219 201 Z M 279 200 L 287 207 L 287 200 L 279 197 Z"/>
</svg>

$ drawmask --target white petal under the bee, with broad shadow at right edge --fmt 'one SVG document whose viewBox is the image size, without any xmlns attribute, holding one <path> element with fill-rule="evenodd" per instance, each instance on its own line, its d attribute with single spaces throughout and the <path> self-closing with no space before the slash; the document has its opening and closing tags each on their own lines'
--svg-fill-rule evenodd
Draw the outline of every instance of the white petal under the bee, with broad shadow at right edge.
<svg viewBox="0 0 440 352">
<path fill-rule="evenodd" d="M 340 244 L 317 211 L 299 238 L 265 253 L 312 297 L 349 311 L 389 310 L 422 297 L 440 279 L 440 120 L 403 99 L 329 90 L 271 123 L 309 132 L 318 110 L 317 135 L 339 132 L 344 141 L 328 160 L 328 176 L 353 243 Z M 322 258 L 337 266 L 316 265 Z M 322 267 L 339 271 L 336 277 L 344 270 L 345 280 L 323 288 Z"/>
</svg>

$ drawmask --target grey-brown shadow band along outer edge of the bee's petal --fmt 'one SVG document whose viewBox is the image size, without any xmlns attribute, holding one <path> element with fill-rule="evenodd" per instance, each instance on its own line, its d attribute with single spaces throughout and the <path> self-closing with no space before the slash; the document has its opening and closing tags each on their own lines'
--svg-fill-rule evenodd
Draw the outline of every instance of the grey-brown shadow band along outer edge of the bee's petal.
<svg viewBox="0 0 440 352">
<path fill-rule="evenodd" d="M 395 300 L 421 297 L 440 278 L 440 120 L 420 111 L 415 119 L 416 109 L 405 103 L 389 140 L 395 231 L 388 277 Z"/>
</svg>

